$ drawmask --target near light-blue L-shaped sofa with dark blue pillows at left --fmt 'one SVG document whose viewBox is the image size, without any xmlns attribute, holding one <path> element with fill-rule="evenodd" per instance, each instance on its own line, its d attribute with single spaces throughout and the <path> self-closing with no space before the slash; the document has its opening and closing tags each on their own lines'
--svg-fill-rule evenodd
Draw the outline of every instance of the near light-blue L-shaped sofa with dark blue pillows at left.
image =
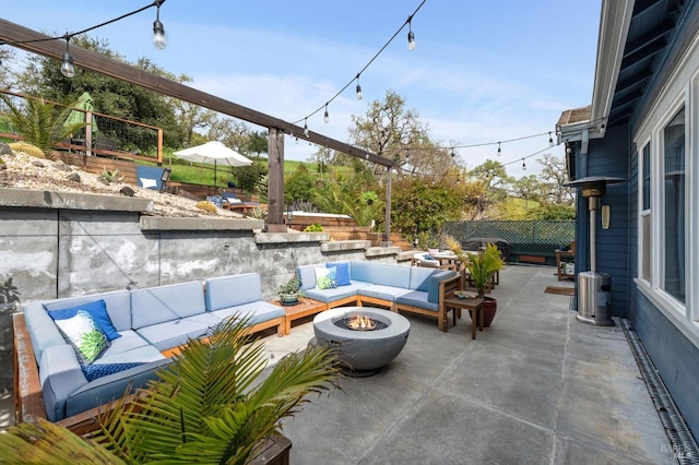
<svg viewBox="0 0 699 465">
<path fill-rule="evenodd" d="M 85 360 L 82 348 L 68 341 L 72 329 L 66 325 L 75 320 L 67 321 L 83 312 L 91 315 L 88 324 L 111 338 L 94 360 Z M 173 350 L 234 314 L 247 315 L 251 332 L 276 326 L 283 334 L 284 309 L 262 300 L 257 273 L 35 301 L 14 315 L 23 319 L 34 360 L 17 355 L 15 363 L 36 362 L 45 416 L 58 421 L 121 397 L 130 384 L 132 390 L 145 386 Z M 17 331 L 15 322 L 15 354 Z M 103 341 L 99 336 L 97 345 Z M 17 378 L 15 396 L 37 397 L 25 392 L 32 383 Z"/>
</svg>

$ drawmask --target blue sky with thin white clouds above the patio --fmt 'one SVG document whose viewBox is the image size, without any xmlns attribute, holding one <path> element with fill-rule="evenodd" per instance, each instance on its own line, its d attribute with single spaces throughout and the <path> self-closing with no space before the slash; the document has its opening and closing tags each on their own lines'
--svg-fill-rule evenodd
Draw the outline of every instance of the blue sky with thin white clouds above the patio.
<svg viewBox="0 0 699 465">
<path fill-rule="evenodd" d="M 60 36 L 146 4 L 23 0 L 0 15 Z M 299 126 L 308 117 L 309 129 L 342 142 L 351 142 L 352 116 L 392 91 L 466 168 L 494 159 L 520 178 L 538 172 L 543 154 L 564 157 L 548 133 L 556 142 L 560 114 L 592 102 L 600 12 L 601 0 L 166 0 L 165 50 L 152 45 L 155 8 L 90 35 L 129 61 L 147 57 L 187 74 L 203 92 Z M 359 100 L 354 80 L 365 67 Z M 347 84 L 323 122 L 325 103 Z M 317 150 L 286 138 L 286 159 Z"/>
</svg>

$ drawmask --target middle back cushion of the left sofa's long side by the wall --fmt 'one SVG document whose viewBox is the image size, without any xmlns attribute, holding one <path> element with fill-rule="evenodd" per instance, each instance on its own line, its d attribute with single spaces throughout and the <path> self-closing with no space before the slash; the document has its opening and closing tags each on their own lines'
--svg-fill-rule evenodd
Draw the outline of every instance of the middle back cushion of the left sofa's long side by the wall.
<svg viewBox="0 0 699 465">
<path fill-rule="evenodd" d="M 204 285 L 201 281 L 131 291 L 131 324 L 133 330 L 176 321 L 203 313 L 204 311 L 206 311 Z"/>
</svg>

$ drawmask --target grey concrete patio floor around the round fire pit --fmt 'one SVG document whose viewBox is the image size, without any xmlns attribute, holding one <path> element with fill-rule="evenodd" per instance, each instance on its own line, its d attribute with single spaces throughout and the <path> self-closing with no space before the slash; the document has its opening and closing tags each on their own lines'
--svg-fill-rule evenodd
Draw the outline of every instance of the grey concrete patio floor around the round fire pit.
<svg viewBox="0 0 699 465">
<path fill-rule="evenodd" d="M 471 339 L 467 312 L 437 330 L 407 314 L 401 355 L 312 396 L 284 421 L 293 464 L 672 464 L 670 441 L 619 324 L 580 323 L 545 294 L 554 267 L 510 265 L 498 313 Z M 266 337 L 271 360 L 303 349 L 312 323 Z"/>
</svg>

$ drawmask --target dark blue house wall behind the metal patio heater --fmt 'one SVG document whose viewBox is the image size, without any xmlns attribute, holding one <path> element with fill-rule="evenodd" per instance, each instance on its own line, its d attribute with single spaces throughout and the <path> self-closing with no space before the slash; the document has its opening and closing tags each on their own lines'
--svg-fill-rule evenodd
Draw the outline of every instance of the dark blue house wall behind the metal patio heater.
<svg viewBox="0 0 699 465">
<path fill-rule="evenodd" d="M 588 176 L 613 176 L 628 179 L 629 136 L 627 128 L 607 131 L 603 141 L 592 140 L 587 156 L 577 157 L 578 172 Z M 590 220 L 588 199 L 578 195 L 576 230 L 577 271 L 590 270 Z M 628 317 L 629 308 L 629 184 L 608 186 L 601 205 L 609 205 L 609 229 L 602 229 L 601 214 L 596 218 L 596 271 L 612 278 L 611 312 Z M 587 218 L 587 219 L 584 219 Z M 580 245 L 580 246 L 578 246 Z"/>
</svg>

